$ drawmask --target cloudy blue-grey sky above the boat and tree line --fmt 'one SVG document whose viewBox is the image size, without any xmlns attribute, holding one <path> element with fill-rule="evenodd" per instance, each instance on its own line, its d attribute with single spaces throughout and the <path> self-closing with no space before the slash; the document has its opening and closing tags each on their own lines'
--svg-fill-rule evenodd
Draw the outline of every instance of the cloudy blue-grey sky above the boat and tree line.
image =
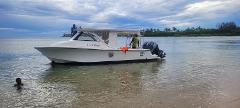
<svg viewBox="0 0 240 108">
<path fill-rule="evenodd" d="M 240 0 L 1 0 L 0 37 L 61 36 L 83 28 L 240 25 Z"/>
</svg>

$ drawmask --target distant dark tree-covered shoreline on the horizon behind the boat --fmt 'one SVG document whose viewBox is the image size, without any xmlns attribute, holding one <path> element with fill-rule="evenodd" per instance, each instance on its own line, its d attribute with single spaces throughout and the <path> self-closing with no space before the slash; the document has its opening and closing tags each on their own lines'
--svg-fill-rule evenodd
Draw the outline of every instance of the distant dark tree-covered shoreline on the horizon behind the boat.
<svg viewBox="0 0 240 108">
<path fill-rule="evenodd" d="M 176 27 L 165 28 L 149 28 L 141 30 L 141 34 L 145 37 L 165 37 L 165 36 L 240 36 L 240 26 L 235 22 L 223 22 L 216 28 L 191 27 L 179 30 Z"/>
</svg>

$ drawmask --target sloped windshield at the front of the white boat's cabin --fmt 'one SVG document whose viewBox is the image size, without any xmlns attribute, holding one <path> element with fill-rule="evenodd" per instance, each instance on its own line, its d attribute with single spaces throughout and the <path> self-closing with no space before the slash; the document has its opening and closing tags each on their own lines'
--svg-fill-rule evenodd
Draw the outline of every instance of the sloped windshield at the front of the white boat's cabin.
<svg viewBox="0 0 240 108">
<path fill-rule="evenodd" d="M 74 40 L 79 40 L 79 41 L 99 41 L 93 34 L 91 33 L 79 33 Z"/>
</svg>

